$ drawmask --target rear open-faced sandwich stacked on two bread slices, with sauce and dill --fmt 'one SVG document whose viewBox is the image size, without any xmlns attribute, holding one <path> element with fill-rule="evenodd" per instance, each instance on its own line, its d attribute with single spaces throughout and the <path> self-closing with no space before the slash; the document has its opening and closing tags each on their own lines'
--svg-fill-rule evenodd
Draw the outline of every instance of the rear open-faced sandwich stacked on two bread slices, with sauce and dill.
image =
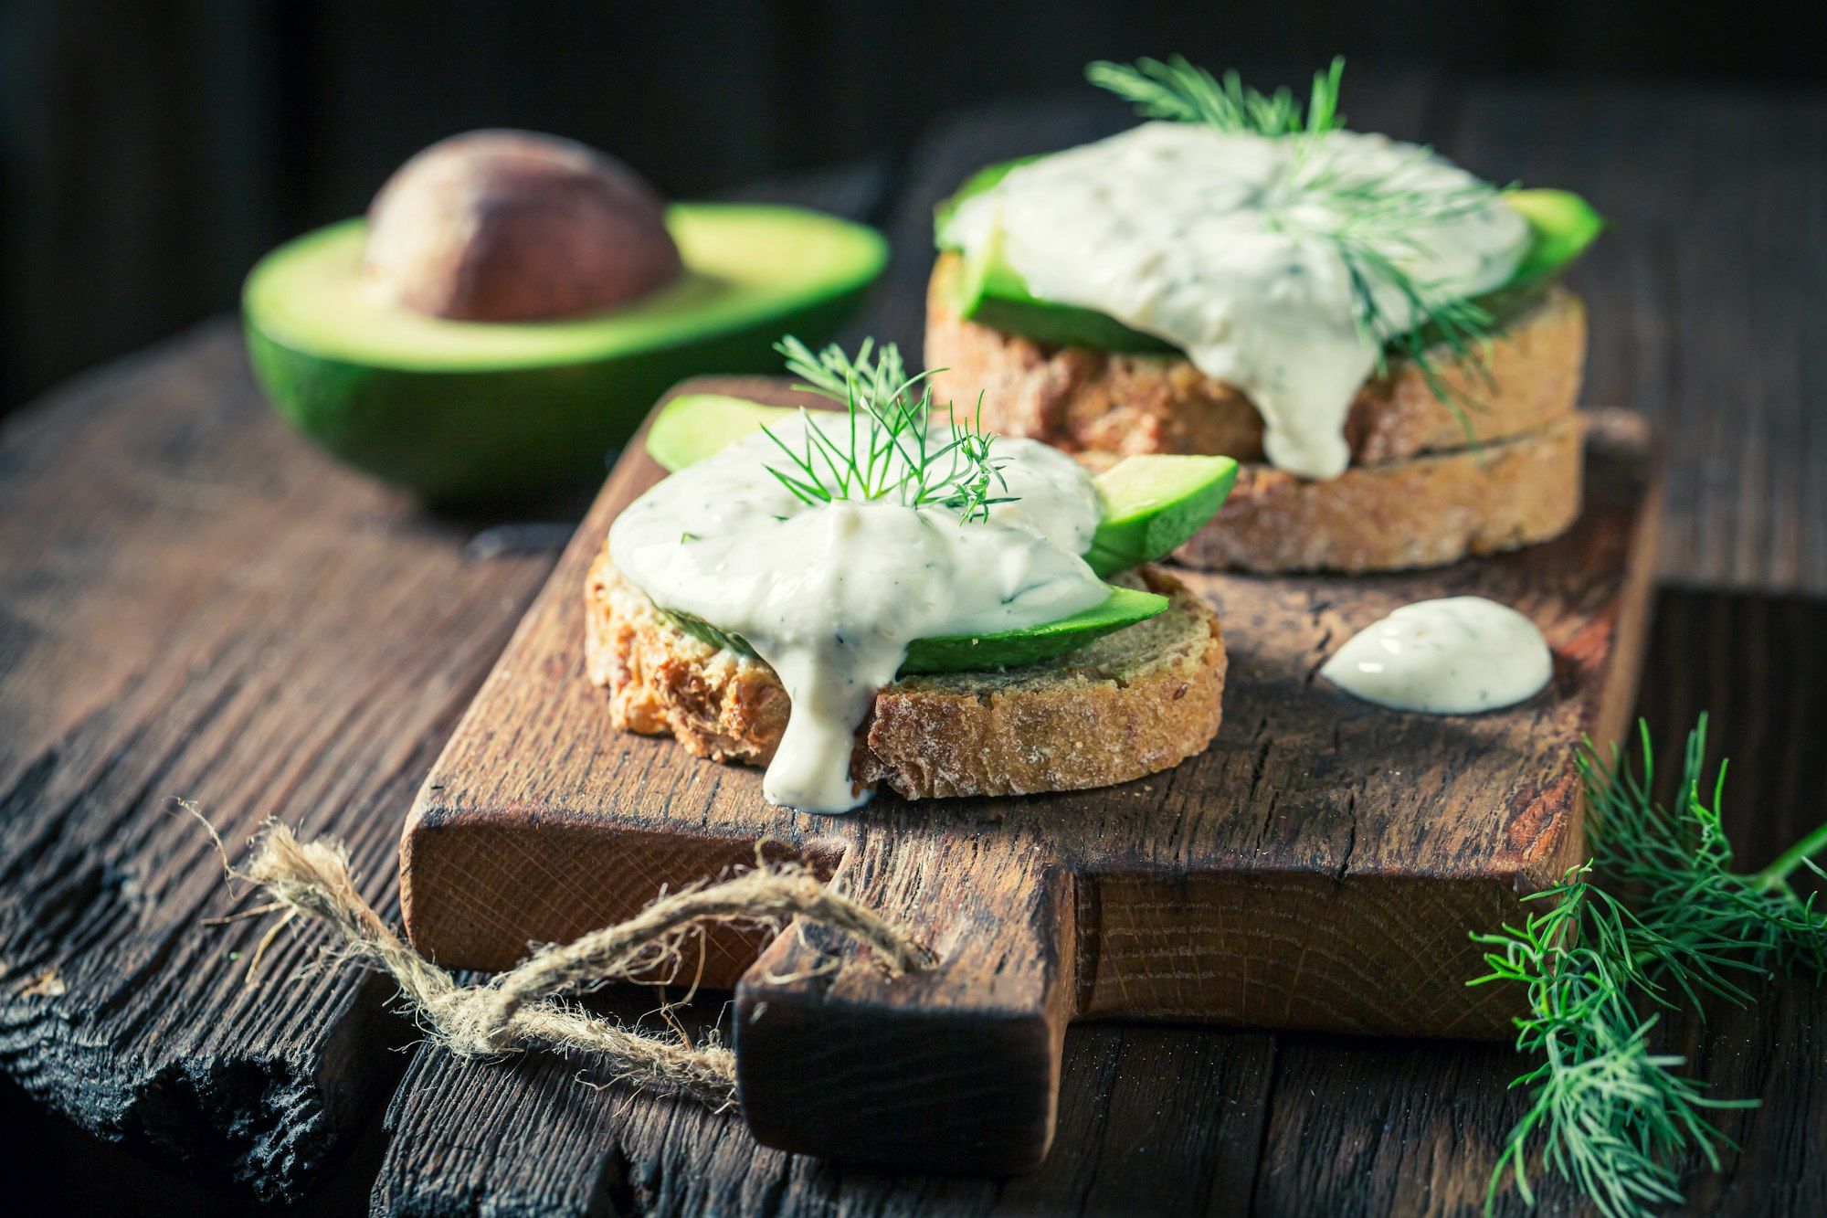
<svg viewBox="0 0 1827 1218">
<path fill-rule="evenodd" d="M 1156 119 L 992 165 L 937 216 L 926 366 L 985 426 L 1089 465 L 1244 463 L 1202 567 L 1379 571 L 1562 532 L 1579 298 L 1602 221 L 1184 60 L 1094 64 Z"/>
</svg>

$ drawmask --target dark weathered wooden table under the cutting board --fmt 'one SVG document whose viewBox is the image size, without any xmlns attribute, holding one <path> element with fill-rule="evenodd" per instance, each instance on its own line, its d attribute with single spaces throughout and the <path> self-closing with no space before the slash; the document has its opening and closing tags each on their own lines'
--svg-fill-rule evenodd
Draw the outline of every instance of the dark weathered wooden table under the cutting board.
<svg viewBox="0 0 1827 1218">
<path fill-rule="evenodd" d="M 1730 828 L 1759 865 L 1822 817 L 1827 790 L 1827 97 L 1387 80 L 1350 101 L 1356 126 L 1575 187 L 1617 218 L 1579 272 L 1586 397 L 1648 413 L 1670 448 L 1641 708 L 1664 755 L 1712 710 L 1716 752 L 1734 757 Z M 884 223 L 895 263 L 853 333 L 917 349 L 932 201 L 983 161 L 1122 121 L 1083 101 L 981 112 L 904 159 L 756 194 Z M 247 984 L 267 927 L 208 922 L 247 902 L 172 799 L 195 799 L 230 849 L 265 817 L 343 836 L 396 913 L 400 817 L 563 540 L 477 543 L 488 523 L 429 519 L 287 433 L 227 320 L 0 432 L 9 1200 L 141 1214 L 247 1198 L 411 1214 L 1482 1203 L 1520 1110 L 1502 1044 L 1078 1026 L 1040 1172 L 890 1178 L 762 1150 L 734 1116 L 601 1088 L 576 1063 L 415 1046 L 387 986 L 300 973 L 314 929 L 278 935 Z M 1727 1114 L 1739 1149 L 1694 1174 L 1694 1209 L 1827 1211 L 1827 993 L 1770 984 L 1674 1042 L 1719 1094 L 1763 1101 Z M 1551 1185 L 1544 1205 L 1571 1200 Z"/>
</svg>

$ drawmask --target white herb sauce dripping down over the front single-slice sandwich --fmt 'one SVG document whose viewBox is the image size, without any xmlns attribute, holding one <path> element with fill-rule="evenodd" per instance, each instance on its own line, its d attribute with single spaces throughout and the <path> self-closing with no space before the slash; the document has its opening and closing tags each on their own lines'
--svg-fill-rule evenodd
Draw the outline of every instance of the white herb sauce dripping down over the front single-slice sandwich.
<svg viewBox="0 0 1827 1218">
<path fill-rule="evenodd" d="M 851 421 L 802 413 L 848 444 Z M 870 433 L 864 415 L 855 426 Z M 934 433 L 934 448 L 948 441 Z M 890 457 L 903 463 L 901 455 Z M 742 635 L 793 702 L 762 790 L 804 812 L 850 812 L 870 790 L 850 777 L 855 732 L 915 638 L 1040 625 L 1100 604 L 1107 587 L 1080 554 L 1102 505 L 1065 454 L 998 439 L 988 521 L 895 499 L 809 505 L 769 466 L 793 472 L 767 435 L 736 441 L 636 499 L 608 530 L 610 560 L 663 609 Z"/>
</svg>

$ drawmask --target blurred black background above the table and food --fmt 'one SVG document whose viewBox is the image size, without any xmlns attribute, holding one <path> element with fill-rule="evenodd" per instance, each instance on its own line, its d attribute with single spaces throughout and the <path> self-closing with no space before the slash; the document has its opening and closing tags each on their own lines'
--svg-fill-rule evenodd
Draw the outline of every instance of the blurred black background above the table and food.
<svg viewBox="0 0 1827 1218">
<path fill-rule="evenodd" d="M 1827 75 L 1820 4 L 1705 0 L 0 0 L 0 411 L 232 307 L 276 241 L 473 126 L 572 135 L 671 194 L 862 155 L 1091 59 L 1295 79 Z M 1111 102 L 1116 106 L 1118 102 Z"/>
</svg>

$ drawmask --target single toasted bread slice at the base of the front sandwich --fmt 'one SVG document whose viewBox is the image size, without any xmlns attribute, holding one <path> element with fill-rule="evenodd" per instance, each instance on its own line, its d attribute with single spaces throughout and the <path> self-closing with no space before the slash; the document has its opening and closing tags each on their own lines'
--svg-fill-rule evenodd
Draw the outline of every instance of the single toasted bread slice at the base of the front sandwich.
<svg viewBox="0 0 1827 1218">
<path fill-rule="evenodd" d="M 1169 607 L 1058 660 L 904 677 L 875 695 L 850 772 L 908 799 L 1109 786 L 1206 748 L 1219 730 L 1224 638 L 1206 602 L 1164 571 L 1136 587 Z M 585 657 L 618 728 L 718 761 L 766 764 L 787 693 L 760 660 L 680 631 L 605 549 L 585 583 Z"/>
</svg>

